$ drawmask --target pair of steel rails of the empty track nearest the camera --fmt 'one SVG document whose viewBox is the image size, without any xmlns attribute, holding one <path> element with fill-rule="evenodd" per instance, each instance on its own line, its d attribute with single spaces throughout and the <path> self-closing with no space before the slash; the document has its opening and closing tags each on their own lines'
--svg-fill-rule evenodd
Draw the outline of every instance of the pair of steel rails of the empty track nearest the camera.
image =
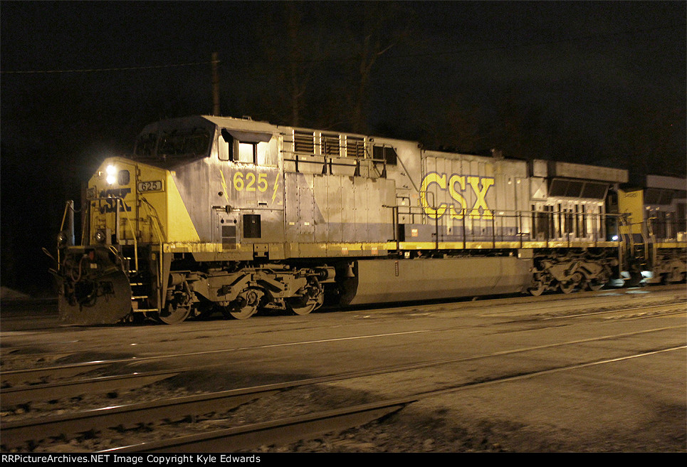
<svg viewBox="0 0 687 467">
<path fill-rule="evenodd" d="M 674 327 L 656 328 L 653 330 L 642 330 L 637 332 L 627 332 L 618 335 L 591 337 L 588 339 L 574 340 L 569 342 L 558 342 L 550 345 L 539 345 L 533 347 L 523 347 L 503 352 L 492 352 L 483 355 L 473 355 L 470 357 L 461 357 L 444 360 L 434 360 L 431 362 L 421 362 L 417 364 L 408 364 L 397 367 L 386 367 L 381 369 L 373 369 L 364 372 L 350 372 L 347 374 L 339 374 L 330 377 L 320 377 L 312 379 L 302 379 L 295 382 L 286 382 L 278 384 L 267 384 L 261 387 L 250 387 L 244 389 L 233 389 L 230 391 L 216 392 L 211 394 L 201 394 L 188 397 L 175 397 L 172 399 L 159 400 L 157 402 L 140 402 L 137 404 L 127 404 L 120 406 L 108 406 L 100 409 L 93 409 L 87 411 L 79 411 L 73 414 L 61 414 L 57 416 L 39 416 L 37 418 L 6 421 L 2 426 L 2 444 L 5 449 L 22 448 L 23 446 L 34 446 L 43 439 L 50 439 L 53 437 L 66 437 L 70 439 L 73 436 L 78 436 L 85 432 L 95 433 L 112 427 L 119 427 L 119 429 L 127 429 L 131 426 L 140 426 L 159 420 L 179 421 L 184 419 L 194 419 L 204 414 L 223 414 L 231 409 L 254 402 L 261 397 L 272 396 L 278 392 L 287 391 L 295 387 L 305 385 L 324 384 L 327 382 L 342 381 L 344 379 L 353 379 L 358 377 L 368 377 L 377 374 L 384 374 L 389 372 L 404 372 L 414 369 L 432 367 L 441 364 L 451 364 L 458 362 L 468 362 L 471 360 L 480 360 L 489 357 L 501 357 L 503 355 L 513 355 L 520 352 L 531 352 L 552 347 L 563 347 L 570 345 L 580 345 L 587 342 L 597 342 L 601 340 L 611 340 L 631 335 L 640 335 L 646 332 L 658 332 L 661 330 L 673 329 Z M 662 351 L 678 350 L 683 347 L 670 347 Z M 641 357 L 650 355 L 650 353 L 640 353 L 622 357 L 624 359 L 632 357 Z M 557 369 L 546 369 L 541 371 L 530 372 L 528 374 L 520 374 L 518 377 L 528 377 L 535 374 L 545 374 L 547 372 L 563 371 L 565 369 L 579 368 L 589 366 L 592 364 L 601 364 L 603 362 L 612 362 L 619 359 L 612 360 L 597 360 L 594 362 L 584 362 L 581 364 L 572 364 Z M 164 374 L 148 375 L 151 377 L 164 377 Z M 143 377 L 143 376 L 142 376 Z M 313 430 L 326 429 L 327 431 L 335 431 L 332 427 L 339 427 L 345 424 L 364 424 L 367 421 L 382 416 L 381 414 L 388 414 L 391 411 L 398 410 L 405 404 L 409 404 L 418 397 L 431 397 L 431 395 L 440 394 L 442 391 L 453 391 L 467 387 L 473 387 L 476 384 L 489 384 L 493 382 L 505 382 L 513 380 L 515 377 L 498 377 L 489 381 L 481 379 L 478 382 L 469 382 L 460 384 L 455 387 L 444 388 L 423 394 L 410 394 L 404 399 L 383 400 L 374 404 L 365 404 L 349 407 L 347 409 L 337 409 L 336 411 L 325 411 L 321 414 L 306 414 L 295 417 L 293 419 L 278 419 L 272 422 L 264 422 L 255 426 L 246 428 L 231 428 L 220 429 L 208 432 L 206 434 L 196 434 L 194 436 L 185 437 L 184 439 L 177 439 L 174 443 L 177 445 L 165 445 L 162 441 L 155 441 L 154 443 L 147 443 L 145 446 L 136 445 L 122 448 L 124 451 L 156 451 L 159 449 L 177 448 L 181 449 L 187 446 L 190 451 L 197 451 L 199 449 L 211 449 L 211 446 L 218 446 L 215 443 L 220 443 L 221 446 L 234 446 L 227 444 L 226 438 L 236 440 L 238 446 L 246 446 L 246 440 L 252 439 L 258 443 L 256 446 L 265 444 L 266 440 L 278 439 L 282 440 L 283 436 L 288 433 L 300 434 L 298 436 L 305 436 L 304 434 L 312 434 Z M 302 426 L 303 428 L 295 429 L 295 426 Z M 276 430 L 276 433 L 272 431 Z M 320 432 L 320 431 L 318 431 Z M 271 438 L 272 436 L 272 438 Z M 218 441 L 224 440 L 224 441 Z M 259 442 L 258 442 L 259 441 Z M 169 442 L 172 442 L 170 439 Z M 234 442 L 234 441 L 232 441 Z M 276 441 L 271 441 L 271 444 Z M 283 441 L 278 441 L 283 442 Z M 268 443 L 270 444 L 270 443 Z"/>
</svg>

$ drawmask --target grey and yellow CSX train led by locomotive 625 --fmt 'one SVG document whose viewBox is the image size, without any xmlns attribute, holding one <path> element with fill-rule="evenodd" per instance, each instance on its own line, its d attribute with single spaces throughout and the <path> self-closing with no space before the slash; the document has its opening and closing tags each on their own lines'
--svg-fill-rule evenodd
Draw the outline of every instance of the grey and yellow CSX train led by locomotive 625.
<svg viewBox="0 0 687 467">
<path fill-rule="evenodd" d="M 684 280 L 685 182 L 647 181 L 248 118 L 164 120 L 90 179 L 80 241 L 68 202 L 61 319 L 172 324 Z"/>
</svg>

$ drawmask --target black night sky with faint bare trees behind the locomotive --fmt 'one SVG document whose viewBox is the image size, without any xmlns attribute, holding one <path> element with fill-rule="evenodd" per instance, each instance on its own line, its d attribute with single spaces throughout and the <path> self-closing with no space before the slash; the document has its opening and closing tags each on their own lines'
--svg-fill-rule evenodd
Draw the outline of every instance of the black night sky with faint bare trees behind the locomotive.
<svg viewBox="0 0 687 467">
<path fill-rule="evenodd" d="M 686 172 L 685 1 L 0 2 L 3 285 L 147 122 L 222 115 Z"/>
</svg>

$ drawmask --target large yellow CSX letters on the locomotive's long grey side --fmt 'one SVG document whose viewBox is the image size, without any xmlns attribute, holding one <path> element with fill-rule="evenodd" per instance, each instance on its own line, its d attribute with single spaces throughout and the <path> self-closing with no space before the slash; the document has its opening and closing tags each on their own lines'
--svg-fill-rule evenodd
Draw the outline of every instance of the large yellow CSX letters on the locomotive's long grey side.
<svg viewBox="0 0 687 467">
<path fill-rule="evenodd" d="M 451 198 L 456 203 L 441 203 L 439 206 L 430 206 L 427 201 L 427 189 L 431 184 L 437 184 L 439 188 L 444 190 L 448 189 Z M 461 193 L 469 186 L 476 195 L 476 201 L 468 216 L 471 219 L 493 219 L 493 212 L 489 209 L 486 202 L 487 191 L 489 191 L 493 184 L 494 179 L 492 177 L 466 177 L 458 174 L 451 174 L 449 177 L 446 174 L 432 172 L 431 174 L 426 174 L 424 179 L 422 179 L 420 204 L 425 214 L 432 219 L 439 219 L 446 214 L 446 211 L 449 211 L 451 219 L 463 219 L 463 215 L 466 214 L 468 209 L 468 201 Z"/>
</svg>

